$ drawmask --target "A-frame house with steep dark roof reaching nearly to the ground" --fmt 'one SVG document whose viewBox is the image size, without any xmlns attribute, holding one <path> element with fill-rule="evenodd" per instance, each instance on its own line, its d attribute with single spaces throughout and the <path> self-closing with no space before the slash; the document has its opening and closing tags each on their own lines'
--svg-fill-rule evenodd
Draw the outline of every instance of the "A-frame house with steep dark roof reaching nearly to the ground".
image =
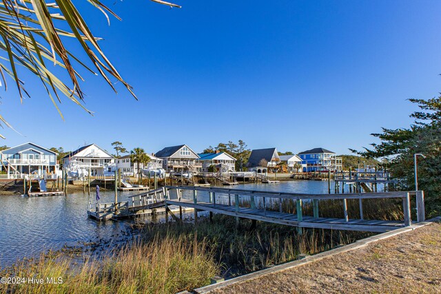
<svg viewBox="0 0 441 294">
<path fill-rule="evenodd" d="M 253 149 L 247 162 L 250 171 L 258 173 L 266 173 L 267 171 L 275 171 L 280 162 L 276 148 Z"/>
</svg>

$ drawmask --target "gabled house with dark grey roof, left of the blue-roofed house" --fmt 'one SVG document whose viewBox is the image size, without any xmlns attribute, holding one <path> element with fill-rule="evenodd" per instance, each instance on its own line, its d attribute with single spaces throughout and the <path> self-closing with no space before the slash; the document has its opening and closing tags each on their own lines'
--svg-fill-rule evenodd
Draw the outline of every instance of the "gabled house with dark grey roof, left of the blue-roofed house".
<svg viewBox="0 0 441 294">
<path fill-rule="evenodd" d="M 176 171 L 202 171 L 201 162 L 196 162 L 196 159 L 199 159 L 198 154 L 187 145 L 165 147 L 161 151 L 156 152 L 154 156 L 163 160 L 163 169 L 165 169 L 167 173 Z"/>
</svg>

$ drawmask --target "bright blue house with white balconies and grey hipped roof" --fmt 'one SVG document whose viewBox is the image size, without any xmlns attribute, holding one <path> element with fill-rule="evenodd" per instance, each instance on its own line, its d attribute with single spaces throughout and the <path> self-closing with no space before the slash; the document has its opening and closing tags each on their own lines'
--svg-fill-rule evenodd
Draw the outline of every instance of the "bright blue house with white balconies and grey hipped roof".
<svg viewBox="0 0 441 294">
<path fill-rule="evenodd" d="M 300 152 L 298 156 L 302 159 L 303 171 L 341 171 L 342 158 L 336 153 L 325 148 L 314 148 Z"/>
</svg>

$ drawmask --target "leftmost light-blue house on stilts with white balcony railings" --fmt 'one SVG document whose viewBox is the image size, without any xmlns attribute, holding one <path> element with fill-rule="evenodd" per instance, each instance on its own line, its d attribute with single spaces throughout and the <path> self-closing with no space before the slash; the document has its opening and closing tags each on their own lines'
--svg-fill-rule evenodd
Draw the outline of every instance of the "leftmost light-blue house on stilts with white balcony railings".
<svg viewBox="0 0 441 294">
<path fill-rule="evenodd" d="M 24 143 L 0 151 L 1 169 L 8 178 L 21 178 L 23 174 L 58 174 L 57 153 L 34 143 Z"/>
</svg>

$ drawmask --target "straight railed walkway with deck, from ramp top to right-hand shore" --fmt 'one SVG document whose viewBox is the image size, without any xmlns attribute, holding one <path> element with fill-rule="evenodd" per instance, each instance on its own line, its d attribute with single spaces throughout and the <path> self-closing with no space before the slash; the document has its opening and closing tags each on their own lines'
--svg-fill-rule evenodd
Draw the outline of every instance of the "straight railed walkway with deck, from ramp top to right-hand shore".
<svg viewBox="0 0 441 294">
<path fill-rule="evenodd" d="M 167 187 L 168 191 L 192 191 L 192 199 L 168 198 L 165 204 L 183 207 L 192 207 L 196 211 L 210 211 L 221 213 L 236 218 L 247 218 L 277 224 L 287 224 L 300 228 L 339 229 L 349 231 L 384 232 L 411 225 L 411 197 L 416 197 L 417 221 L 424 221 L 424 192 L 404 191 L 387 193 L 352 193 L 352 194 L 303 194 L 303 193 L 278 193 L 271 191 L 250 191 L 244 189 L 226 188 L 197 188 L 197 187 Z M 209 202 L 198 200 L 198 193 L 209 193 Z M 182 195 L 182 192 L 176 192 Z M 232 199 L 234 198 L 234 199 Z M 398 198 L 402 200 L 404 220 L 367 220 L 363 218 L 362 200 Z M 360 201 L 360 218 L 349 218 L 347 200 Z M 296 213 L 283 210 L 283 201 L 294 200 Z M 341 200 L 343 202 L 344 218 L 320 217 L 318 202 L 320 200 Z M 312 202 L 314 213 L 305 216 L 302 213 L 303 202 Z M 268 202 L 273 205 L 272 209 Z M 274 204 L 278 209 L 274 209 Z M 292 209 L 290 209 L 292 210 Z"/>
</svg>

